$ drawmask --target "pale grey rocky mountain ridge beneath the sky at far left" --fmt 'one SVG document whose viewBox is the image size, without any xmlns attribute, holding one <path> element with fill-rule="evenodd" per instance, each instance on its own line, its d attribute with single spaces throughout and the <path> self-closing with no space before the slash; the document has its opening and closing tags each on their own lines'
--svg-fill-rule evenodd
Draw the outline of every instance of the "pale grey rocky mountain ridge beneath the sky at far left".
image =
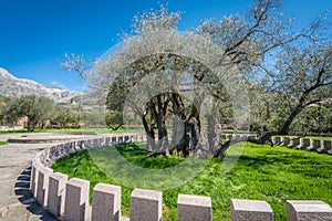
<svg viewBox="0 0 332 221">
<path fill-rule="evenodd" d="M 7 70 L 0 67 L 0 95 L 20 97 L 24 95 L 44 96 L 55 103 L 69 102 L 74 96 L 68 90 L 50 87 L 31 80 L 18 78 Z"/>
</svg>

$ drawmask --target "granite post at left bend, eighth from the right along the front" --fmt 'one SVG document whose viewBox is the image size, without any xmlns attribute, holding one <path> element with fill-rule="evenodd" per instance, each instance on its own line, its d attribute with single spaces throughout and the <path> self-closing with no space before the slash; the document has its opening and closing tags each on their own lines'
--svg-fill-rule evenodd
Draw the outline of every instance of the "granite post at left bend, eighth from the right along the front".
<svg viewBox="0 0 332 221">
<path fill-rule="evenodd" d="M 42 207 L 48 206 L 49 177 L 52 172 L 52 169 L 42 166 L 39 168 L 38 171 L 38 186 L 35 199 Z"/>
</svg>

